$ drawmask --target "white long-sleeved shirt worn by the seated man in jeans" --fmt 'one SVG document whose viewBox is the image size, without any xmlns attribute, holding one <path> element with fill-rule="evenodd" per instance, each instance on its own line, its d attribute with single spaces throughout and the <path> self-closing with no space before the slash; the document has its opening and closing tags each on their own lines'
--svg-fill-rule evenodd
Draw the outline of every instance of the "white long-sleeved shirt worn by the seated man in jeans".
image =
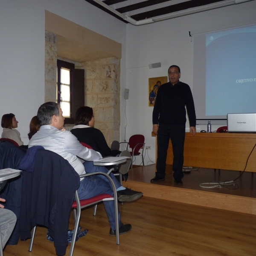
<svg viewBox="0 0 256 256">
<path fill-rule="evenodd" d="M 81 145 L 76 136 L 70 131 L 60 131 L 52 125 L 40 127 L 40 130 L 29 141 L 29 148 L 32 146 L 42 146 L 59 154 L 73 166 L 79 175 L 84 174 L 85 170 L 76 156 L 86 161 L 95 161 L 102 158 L 99 152 Z"/>
</svg>

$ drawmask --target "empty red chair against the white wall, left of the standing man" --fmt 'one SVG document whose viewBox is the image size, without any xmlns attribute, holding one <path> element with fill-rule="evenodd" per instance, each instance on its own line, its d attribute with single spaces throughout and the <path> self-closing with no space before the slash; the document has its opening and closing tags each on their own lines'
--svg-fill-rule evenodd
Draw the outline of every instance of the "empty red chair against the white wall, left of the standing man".
<svg viewBox="0 0 256 256">
<path fill-rule="evenodd" d="M 144 166 L 144 156 L 143 156 L 143 152 L 144 152 L 144 148 L 145 148 L 145 137 L 141 134 L 135 134 L 133 136 L 130 137 L 129 142 L 120 142 L 121 143 L 126 143 L 126 150 L 128 150 L 128 147 L 131 148 L 131 168 L 132 168 L 132 164 L 134 161 L 134 156 L 140 156 L 142 157 L 142 163 Z M 142 148 L 142 152 L 140 154 L 140 149 Z"/>
</svg>

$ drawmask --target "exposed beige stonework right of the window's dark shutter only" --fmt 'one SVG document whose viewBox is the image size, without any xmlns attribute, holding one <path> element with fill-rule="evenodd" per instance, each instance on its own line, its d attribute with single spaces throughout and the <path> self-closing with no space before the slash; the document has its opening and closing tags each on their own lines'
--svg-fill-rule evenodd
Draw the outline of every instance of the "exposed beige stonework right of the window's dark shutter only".
<svg viewBox="0 0 256 256">
<path fill-rule="evenodd" d="M 111 57 L 96 61 L 86 61 L 85 105 L 92 107 L 95 128 L 102 131 L 110 145 L 119 141 L 120 129 L 120 59 Z"/>
</svg>

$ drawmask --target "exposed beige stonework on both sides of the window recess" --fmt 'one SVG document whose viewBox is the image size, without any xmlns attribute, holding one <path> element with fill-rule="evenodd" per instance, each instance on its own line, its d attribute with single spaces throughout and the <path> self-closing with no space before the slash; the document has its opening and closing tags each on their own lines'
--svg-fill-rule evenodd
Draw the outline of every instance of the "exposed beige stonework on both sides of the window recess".
<svg viewBox="0 0 256 256">
<path fill-rule="evenodd" d="M 57 37 L 45 32 L 45 102 L 56 101 Z M 68 61 L 66 59 L 63 59 Z M 74 63 L 73 61 L 71 61 Z M 76 63 L 84 69 L 84 102 L 92 107 L 95 128 L 102 131 L 110 145 L 119 141 L 120 129 L 120 59 L 111 57 Z M 73 125 L 65 125 L 68 130 Z"/>
</svg>

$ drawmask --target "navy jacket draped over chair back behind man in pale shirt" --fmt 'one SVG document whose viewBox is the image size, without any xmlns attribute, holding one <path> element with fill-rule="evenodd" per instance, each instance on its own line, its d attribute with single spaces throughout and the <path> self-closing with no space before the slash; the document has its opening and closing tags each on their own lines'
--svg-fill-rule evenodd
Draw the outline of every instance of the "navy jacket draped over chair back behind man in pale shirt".
<svg viewBox="0 0 256 256">
<path fill-rule="evenodd" d="M 80 185 L 79 175 L 67 160 L 45 149 L 37 150 L 34 163 L 33 172 L 23 172 L 20 238 L 30 238 L 36 224 L 44 225 L 54 239 L 56 254 L 65 255 L 68 220 Z"/>
</svg>

